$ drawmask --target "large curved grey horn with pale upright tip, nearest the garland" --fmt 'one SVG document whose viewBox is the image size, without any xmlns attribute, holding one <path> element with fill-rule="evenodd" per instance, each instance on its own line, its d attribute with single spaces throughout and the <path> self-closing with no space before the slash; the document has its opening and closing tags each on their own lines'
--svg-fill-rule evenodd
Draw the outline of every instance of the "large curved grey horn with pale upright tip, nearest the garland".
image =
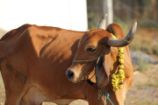
<svg viewBox="0 0 158 105">
<path fill-rule="evenodd" d="M 120 40 L 108 40 L 108 45 L 113 47 L 123 47 L 131 43 L 133 39 L 133 35 L 136 32 L 137 29 L 137 21 L 134 22 L 133 26 L 131 27 L 128 34 Z"/>
</svg>

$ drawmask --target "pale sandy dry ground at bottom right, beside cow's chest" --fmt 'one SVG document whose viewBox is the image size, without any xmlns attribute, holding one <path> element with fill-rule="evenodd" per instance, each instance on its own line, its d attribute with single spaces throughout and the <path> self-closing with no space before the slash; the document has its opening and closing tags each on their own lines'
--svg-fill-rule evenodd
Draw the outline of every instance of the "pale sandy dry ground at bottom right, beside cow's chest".
<svg viewBox="0 0 158 105">
<path fill-rule="evenodd" d="M 158 66 L 135 72 L 134 84 L 127 97 L 127 105 L 158 105 Z"/>
</svg>

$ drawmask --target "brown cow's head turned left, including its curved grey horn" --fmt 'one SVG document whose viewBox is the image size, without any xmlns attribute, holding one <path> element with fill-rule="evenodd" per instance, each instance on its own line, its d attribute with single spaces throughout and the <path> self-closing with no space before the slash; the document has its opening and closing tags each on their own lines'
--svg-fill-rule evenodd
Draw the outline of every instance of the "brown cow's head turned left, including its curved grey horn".
<svg viewBox="0 0 158 105">
<path fill-rule="evenodd" d="M 112 39 L 112 34 L 123 35 L 117 24 L 109 25 L 106 30 L 93 29 L 86 32 L 78 43 L 72 65 L 66 71 L 67 78 L 76 83 L 88 77 L 100 56 L 109 54 L 111 47 L 123 47 L 132 41 L 136 26 L 135 22 L 128 34 L 119 40 Z"/>
</svg>

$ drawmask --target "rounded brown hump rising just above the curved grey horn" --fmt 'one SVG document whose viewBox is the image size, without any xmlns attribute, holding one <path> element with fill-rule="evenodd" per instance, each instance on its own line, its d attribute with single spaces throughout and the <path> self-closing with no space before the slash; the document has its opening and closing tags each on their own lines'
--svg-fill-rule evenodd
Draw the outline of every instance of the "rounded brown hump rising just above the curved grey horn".
<svg viewBox="0 0 158 105">
<path fill-rule="evenodd" d="M 118 24 L 115 24 L 115 23 L 110 24 L 107 27 L 106 31 L 112 33 L 113 35 L 117 36 L 118 38 L 123 37 L 123 35 L 124 35 L 121 26 Z"/>
</svg>

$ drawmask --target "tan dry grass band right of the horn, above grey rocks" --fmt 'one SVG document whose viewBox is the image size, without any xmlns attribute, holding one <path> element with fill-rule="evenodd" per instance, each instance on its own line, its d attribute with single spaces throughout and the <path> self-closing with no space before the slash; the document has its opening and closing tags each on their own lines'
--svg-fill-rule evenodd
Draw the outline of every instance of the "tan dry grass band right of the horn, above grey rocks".
<svg viewBox="0 0 158 105">
<path fill-rule="evenodd" d="M 133 50 L 158 55 L 158 29 L 139 29 L 130 45 Z"/>
</svg>

